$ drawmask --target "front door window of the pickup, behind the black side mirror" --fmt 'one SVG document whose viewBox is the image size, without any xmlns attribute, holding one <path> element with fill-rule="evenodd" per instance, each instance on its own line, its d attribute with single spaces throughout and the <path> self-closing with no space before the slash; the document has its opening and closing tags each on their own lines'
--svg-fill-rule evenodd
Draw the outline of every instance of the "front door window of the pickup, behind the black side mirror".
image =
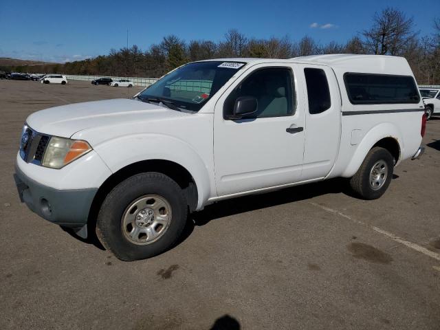
<svg viewBox="0 0 440 330">
<path fill-rule="evenodd" d="M 223 117 L 228 118 L 234 110 L 235 100 L 241 96 L 256 98 L 256 113 L 243 117 L 265 118 L 292 115 L 294 113 L 294 91 L 292 70 L 287 68 L 259 69 L 241 83 L 223 105 Z"/>
</svg>

